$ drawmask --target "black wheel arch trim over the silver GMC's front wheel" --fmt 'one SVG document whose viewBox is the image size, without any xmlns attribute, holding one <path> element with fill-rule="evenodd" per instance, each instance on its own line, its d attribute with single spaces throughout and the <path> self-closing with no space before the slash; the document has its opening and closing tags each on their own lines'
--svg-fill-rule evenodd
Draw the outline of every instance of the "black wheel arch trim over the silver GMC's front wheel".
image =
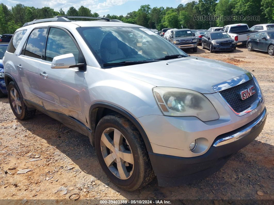
<svg viewBox="0 0 274 205">
<path fill-rule="evenodd" d="M 119 108 L 118 106 L 112 105 L 110 103 L 105 103 L 105 102 L 96 102 L 96 103 L 93 103 L 92 106 L 90 106 L 89 126 L 90 126 L 90 129 L 92 130 L 92 135 L 89 137 L 90 137 L 91 144 L 94 145 L 94 140 L 95 140 L 94 133 L 95 133 L 95 129 L 96 129 L 96 126 L 97 126 L 99 120 L 102 117 L 106 116 L 107 114 L 110 114 L 113 112 L 117 112 L 117 113 L 121 114 L 122 116 L 124 116 L 128 120 L 130 120 L 130 122 L 132 122 L 133 125 L 135 125 L 135 127 L 138 129 L 138 131 L 140 132 L 140 134 L 144 140 L 147 151 L 152 152 L 152 147 L 150 145 L 149 138 L 147 137 L 147 134 L 145 133 L 145 131 L 142 128 L 142 126 L 140 125 L 140 123 L 129 112 L 125 111 L 122 108 Z"/>
</svg>

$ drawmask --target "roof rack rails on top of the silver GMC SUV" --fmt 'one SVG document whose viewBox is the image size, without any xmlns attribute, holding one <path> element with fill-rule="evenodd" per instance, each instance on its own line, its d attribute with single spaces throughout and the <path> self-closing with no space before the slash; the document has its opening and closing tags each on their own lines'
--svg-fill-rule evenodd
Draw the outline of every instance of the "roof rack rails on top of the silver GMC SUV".
<svg viewBox="0 0 274 205">
<path fill-rule="evenodd" d="M 53 22 L 53 21 L 64 21 L 64 22 L 71 22 L 74 20 L 69 20 L 69 18 L 79 18 L 79 19 L 97 19 L 97 21 L 112 21 L 112 22 L 122 22 L 117 19 L 109 19 L 109 18 L 101 18 L 101 17 L 90 17 L 90 16 L 55 16 L 54 18 L 48 18 L 48 19 L 34 19 L 31 22 L 27 22 L 23 25 L 32 25 L 32 24 L 38 24 L 42 22 Z"/>
</svg>

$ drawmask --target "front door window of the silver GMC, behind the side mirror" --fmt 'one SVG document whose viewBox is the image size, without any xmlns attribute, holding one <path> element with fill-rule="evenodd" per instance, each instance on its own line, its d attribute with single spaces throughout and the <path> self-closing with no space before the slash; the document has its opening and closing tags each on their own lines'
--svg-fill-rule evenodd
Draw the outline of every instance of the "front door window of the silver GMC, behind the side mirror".
<svg viewBox="0 0 274 205">
<path fill-rule="evenodd" d="M 76 63 L 84 63 L 84 58 L 71 37 L 59 28 L 50 28 L 45 60 L 52 61 L 55 56 L 72 53 Z"/>
</svg>

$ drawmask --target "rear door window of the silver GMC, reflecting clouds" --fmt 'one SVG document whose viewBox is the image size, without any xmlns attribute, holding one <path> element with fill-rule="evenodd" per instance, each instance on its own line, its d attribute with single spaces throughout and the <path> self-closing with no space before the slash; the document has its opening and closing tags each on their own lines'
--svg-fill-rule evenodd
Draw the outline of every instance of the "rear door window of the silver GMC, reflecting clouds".
<svg viewBox="0 0 274 205">
<path fill-rule="evenodd" d="M 42 59 L 42 50 L 46 40 L 47 28 L 36 28 L 28 37 L 25 56 Z"/>
</svg>

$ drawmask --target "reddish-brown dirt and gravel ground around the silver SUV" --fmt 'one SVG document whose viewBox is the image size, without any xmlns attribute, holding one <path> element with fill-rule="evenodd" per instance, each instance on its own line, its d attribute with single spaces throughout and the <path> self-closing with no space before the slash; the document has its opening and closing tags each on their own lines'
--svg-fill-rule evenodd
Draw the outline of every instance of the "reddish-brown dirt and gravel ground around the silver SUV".
<svg viewBox="0 0 274 205">
<path fill-rule="evenodd" d="M 262 133 L 212 176 L 180 187 L 159 187 L 157 180 L 135 192 L 111 183 L 97 160 L 89 139 L 37 112 L 18 121 L 7 98 L 0 99 L 0 199 L 21 204 L 52 199 L 62 204 L 72 194 L 90 200 L 274 200 L 274 58 L 267 53 L 237 47 L 234 52 L 210 53 L 198 47 L 190 55 L 235 64 L 254 74 L 266 99 L 267 121 Z M 30 161 L 39 159 L 36 161 Z M 31 169 L 17 174 L 19 169 Z M 58 191 L 59 190 L 59 191 Z M 259 192 L 258 192 L 259 191 Z M 262 192 L 262 194 L 260 193 Z M 259 195 L 261 194 L 261 195 Z M 77 195 L 77 196 L 79 196 Z M 74 195 L 75 197 L 76 195 Z M 39 201 L 40 200 L 40 201 Z M 73 200 L 71 200 L 73 201 Z M 7 204 L 8 201 L 1 201 Z M 12 201 L 9 201 L 12 203 Z M 45 202 L 44 202 L 45 203 Z"/>
</svg>

